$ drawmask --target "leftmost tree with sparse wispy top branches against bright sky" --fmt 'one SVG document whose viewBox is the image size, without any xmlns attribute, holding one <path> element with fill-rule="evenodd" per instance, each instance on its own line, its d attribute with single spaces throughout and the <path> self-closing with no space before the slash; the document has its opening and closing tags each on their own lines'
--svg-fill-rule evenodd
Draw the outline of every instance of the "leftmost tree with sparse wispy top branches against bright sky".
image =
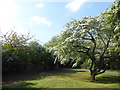
<svg viewBox="0 0 120 90">
<path fill-rule="evenodd" d="M 18 35 L 13 31 L 2 35 L 3 72 L 19 72 L 24 70 L 23 67 L 25 67 L 28 60 L 27 41 L 29 39 L 29 35 Z"/>
</svg>

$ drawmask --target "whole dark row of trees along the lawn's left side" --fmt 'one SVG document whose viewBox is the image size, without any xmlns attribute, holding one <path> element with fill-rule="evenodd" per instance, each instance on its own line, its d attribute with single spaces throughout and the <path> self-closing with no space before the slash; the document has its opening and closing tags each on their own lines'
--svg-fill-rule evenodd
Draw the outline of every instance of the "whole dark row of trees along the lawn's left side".
<svg viewBox="0 0 120 90">
<path fill-rule="evenodd" d="M 43 71 L 54 68 L 53 55 L 30 35 L 8 32 L 2 35 L 2 72 Z M 34 69 L 33 69 L 34 68 Z"/>
</svg>

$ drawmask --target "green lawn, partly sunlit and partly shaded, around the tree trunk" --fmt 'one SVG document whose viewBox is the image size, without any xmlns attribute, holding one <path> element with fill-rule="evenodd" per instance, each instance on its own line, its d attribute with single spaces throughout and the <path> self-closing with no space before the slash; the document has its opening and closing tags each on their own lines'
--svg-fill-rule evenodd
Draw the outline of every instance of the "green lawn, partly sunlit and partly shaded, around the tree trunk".
<svg viewBox="0 0 120 90">
<path fill-rule="evenodd" d="M 104 73 L 92 82 L 89 72 L 85 71 L 46 72 L 37 77 L 10 82 L 3 88 L 120 88 L 119 78 L 120 75 Z"/>
</svg>

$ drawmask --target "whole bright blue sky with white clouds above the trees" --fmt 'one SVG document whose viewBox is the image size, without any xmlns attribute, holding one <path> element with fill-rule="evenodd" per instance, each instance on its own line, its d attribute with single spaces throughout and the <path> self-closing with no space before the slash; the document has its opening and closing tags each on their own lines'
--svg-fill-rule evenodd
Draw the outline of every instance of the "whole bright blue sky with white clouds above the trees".
<svg viewBox="0 0 120 90">
<path fill-rule="evenodd" d="M 59 35 L 72 18 L 97 16 L 111 4 L 110 0 L 0 0 L 0 30 L 2 34 L 29 32 L 44 44 Z"/>
</svg>

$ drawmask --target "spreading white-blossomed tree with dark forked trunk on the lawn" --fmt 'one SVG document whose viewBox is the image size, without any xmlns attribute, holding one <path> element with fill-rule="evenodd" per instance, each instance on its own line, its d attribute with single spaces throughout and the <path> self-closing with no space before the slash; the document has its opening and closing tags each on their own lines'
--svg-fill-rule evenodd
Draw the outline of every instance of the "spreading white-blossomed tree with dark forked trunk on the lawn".
<svg viewBox="0 0 120 90">
<path fill-rule="evenodd" d="M 85 17 L 83 20 L 73 20 L 66 25 L 67 29 L 61 34 L 64 38 L 58 49 L 60 60 L 91 60 L 91 79 L 104 73 L 107 69 L 109 55 L 107 54 L 112 30 L 106 30 L 98 18 Z M 61 58 L 62 57 L 62 58 Z M 77 63 L 77 62 L 76 62 Z"/>
</svg>

